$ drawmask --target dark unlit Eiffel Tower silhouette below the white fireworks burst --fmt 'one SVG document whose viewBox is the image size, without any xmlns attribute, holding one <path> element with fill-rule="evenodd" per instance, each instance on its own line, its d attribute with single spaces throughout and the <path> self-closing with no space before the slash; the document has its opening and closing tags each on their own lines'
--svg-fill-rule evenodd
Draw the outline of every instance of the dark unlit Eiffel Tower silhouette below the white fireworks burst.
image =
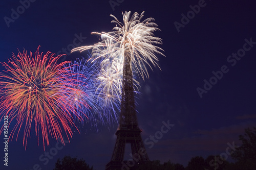
<svg viewBox="0 0 256 170">
<path fill-rule="evenodd" d="M 124 54 L 121 113 L 116 132 L 117 139 L 111 161 L 106 165 L 106 170 L 137 169 L 139 164 L 150 161 L 140 135 L 141 130 L 135 110 L 130 56 L 127 52 Z M 131 143 L 132 161 L 123 160 L 126 143 Z"/>
</svg>

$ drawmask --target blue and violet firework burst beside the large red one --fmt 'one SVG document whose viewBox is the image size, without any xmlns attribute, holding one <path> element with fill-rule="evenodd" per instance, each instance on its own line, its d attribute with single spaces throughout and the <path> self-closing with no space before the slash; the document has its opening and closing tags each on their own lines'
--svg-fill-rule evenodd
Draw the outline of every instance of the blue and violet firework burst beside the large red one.
<svg viewBox="0 0 256 170">
<path fill-rule="evenodd" d="M 84 58 L 76 59 L 74 63 L 65 65 L 68 72 L 72 74 L 62 75 L 65 77 L 63 83 L 71 87 L 73 91 L 65 88 L 61 89 L 61 93 L 65 94 L 65 99 L 61 99 L 63 105 L 67 105 L 68 109 L 74 112 L 74 119 L 82 123 L 90 122 L 91 125 L 96 125 L 98 120 L 102 120 L 101 115 L 98 113 L 99 104 L 96 102 L 96 76 L 98 75 L 97 63 L 87 62 Z M 76 81 L 73 83 L 73 81 Z M 61 103 L 62 103 L 61 102 Z"/>
</svg>

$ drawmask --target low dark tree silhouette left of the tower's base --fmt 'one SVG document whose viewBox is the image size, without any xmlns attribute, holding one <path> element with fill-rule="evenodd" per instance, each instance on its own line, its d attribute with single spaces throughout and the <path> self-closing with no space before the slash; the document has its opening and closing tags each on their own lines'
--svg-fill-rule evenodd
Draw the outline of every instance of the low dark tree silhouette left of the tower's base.
<svg viewBox="0 0 256 170">
<path fill-rule="evenodd" d="M 93 170 L 83 159 L 65 156 L 61 161 L 58 159 L 53 170 Z"/>
</svg>

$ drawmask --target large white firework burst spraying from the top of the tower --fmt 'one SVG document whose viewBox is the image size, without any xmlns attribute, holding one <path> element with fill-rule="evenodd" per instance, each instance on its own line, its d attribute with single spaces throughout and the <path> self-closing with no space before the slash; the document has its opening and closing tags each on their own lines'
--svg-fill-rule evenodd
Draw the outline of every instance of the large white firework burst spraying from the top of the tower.
<svg viewBox="0 0 256 170">
<path fill-rule="evenodd" d="M 155 54 L 164 55 L 160 52 L 163 51 L 162 48 L 154 45 L 162 44 L 161 38 L 154 36 L 155 31 L 160 31 L 157 28 L 157 24 L 153 22 L 155 19 L 147 18 L 142 21 L 143 14 L 144 12 L 141 15 L 136 12 L 131 16 L 131 11 L 122 13 L 123 23 L 114 15 L 111 15 L 114 18 L 112 23 L 116 25 L 112 32 L 93 32 L 92 34 L 99 34 L 101 38 L 103 37 L 101 42 L 94 45 L 77 47 L 71 52 L 82 52 L 90 48 L 93 48 L 94 51 L 94 49 L 98 49 L 97 47 L 101 47 L 106 50 L 103 54 L 96 55 L 97 57 L 109 56 L 110 53 L 115 53 L 116 56 L 121 56 L 120 59 L 122 60 L 124 60 L 125 53 L 129 54 L 133 70 L 143 79 L 144 76 L 148 78 L 149 75 L 146 65 L 150 66 L 151 69 L 151 64 L 158 66 L 158 58 Z"/>
</svg>

